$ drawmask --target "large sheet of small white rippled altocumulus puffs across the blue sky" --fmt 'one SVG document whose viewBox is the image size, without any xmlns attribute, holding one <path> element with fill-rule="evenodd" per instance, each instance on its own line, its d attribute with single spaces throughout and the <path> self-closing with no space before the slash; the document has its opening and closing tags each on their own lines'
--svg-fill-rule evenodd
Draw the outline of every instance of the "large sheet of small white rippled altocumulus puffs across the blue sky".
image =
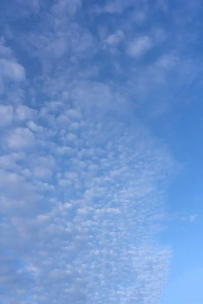
<svg viewBox="0 0 203 304">
<path fill-rule="evenodd" d="M 147 2 L 36 0 L 2 16 L 2 303 L 159 302 L 170 249 L 156 233 L 175 161 L 136 105 L 186 62 L 163 48 L 164 28 L 134 33 L 148 13 Z"/>
</svg>

